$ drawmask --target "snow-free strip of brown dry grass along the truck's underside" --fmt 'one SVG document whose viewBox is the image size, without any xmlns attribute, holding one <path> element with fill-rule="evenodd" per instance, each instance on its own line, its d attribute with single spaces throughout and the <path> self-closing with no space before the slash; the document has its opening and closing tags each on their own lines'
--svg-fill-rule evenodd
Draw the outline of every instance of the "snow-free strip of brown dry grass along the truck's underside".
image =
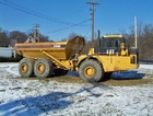
<svg viewBox="0 0 153 116">
<path fill-rule="evenodd" d="M 143 79 L 109 79 L 106 81 L 102 81 L 99 83 L 104 85 L 114 85 L 114 86 L 131 86 L 131 85 L 141 85 L 141 84 L 148 84 L 153 83 L 153 77 L 146 76 L 148 78 Z M 20 78 L 21 79 L 21 78 Z M 72 76 L 61 76 L 61 77 L 51 77 L 51 78 L 22 78 L 22 79 L 30 79 L 30 80 L 39 80 L 39 81 L 57 81 L 62 83 L 83 83 L 87 84 L 89 82 L 83 81 L 80 77 L 72 77 Z"/>
</svg>

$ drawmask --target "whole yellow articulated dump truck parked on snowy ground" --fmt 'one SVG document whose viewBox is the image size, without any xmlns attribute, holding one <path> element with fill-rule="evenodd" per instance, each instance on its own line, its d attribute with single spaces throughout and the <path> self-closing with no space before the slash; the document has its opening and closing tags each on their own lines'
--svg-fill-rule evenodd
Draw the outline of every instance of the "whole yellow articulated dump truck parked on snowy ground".
<svg viewBox="0 0 153 116">
<path fill-rule="evenodd" d="M 78 71 L 81 79 L 98 82 L 113 72 L 137 69 L 138 49 L 126 47 L 122 35 L 106 35 L 102 46 L 93 47 L 81 55 L 85 40 L 75 36 L 67 42 L 21 43 L 14 49 L 24 58 L 19 63 L 22 77 L 47 78 Z"/>
</svg>

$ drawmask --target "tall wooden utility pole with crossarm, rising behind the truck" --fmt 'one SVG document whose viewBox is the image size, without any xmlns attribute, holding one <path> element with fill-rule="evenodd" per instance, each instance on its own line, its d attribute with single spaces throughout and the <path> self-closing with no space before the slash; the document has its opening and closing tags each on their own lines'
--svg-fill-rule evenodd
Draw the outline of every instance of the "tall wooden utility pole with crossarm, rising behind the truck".
<svg viewBox="0 0 153 116">
<path fill-rule="evenodd" d="M 94 5 L 95 4 L 99 4 L 99 2 L 86 2 L 87 4 L 91 4 L 92 5 L 92 13 L 91 13 L 91 16 L 92 16 L 92 47 L 94 47 L 94 12 L 95 12 L 95 9 L 94 9 Z"/>
</svg>

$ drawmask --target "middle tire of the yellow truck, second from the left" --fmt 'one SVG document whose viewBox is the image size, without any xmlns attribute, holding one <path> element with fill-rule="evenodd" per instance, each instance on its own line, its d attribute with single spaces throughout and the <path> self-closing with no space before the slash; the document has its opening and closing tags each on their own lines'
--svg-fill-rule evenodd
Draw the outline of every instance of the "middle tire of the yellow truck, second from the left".
<svg viewBox="0 0 153 116">
<path fill-rule="evenodd" d="M 34 65 L 34 72 L 37 78 L 48 78 L 52 74 L 52 62 L 50 59 L 37 59 Z"/>
</svg>

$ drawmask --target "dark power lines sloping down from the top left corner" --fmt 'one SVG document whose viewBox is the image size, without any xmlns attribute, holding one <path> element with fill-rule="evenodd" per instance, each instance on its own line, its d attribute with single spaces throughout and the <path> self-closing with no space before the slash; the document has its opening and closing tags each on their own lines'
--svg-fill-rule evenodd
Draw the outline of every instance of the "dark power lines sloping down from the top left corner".
<svg viewBox="0 0 153 116">
<path fill-rule="evenodd" d="M 10 2 L 10 1 L 8 1 L 8 0 L 4 0 L 4 1 L 8 2 L 8 3 L 10 3 L 10 4 L 8 4 L 8 3 L 5 3 L 5 2 L 1 2 L 1 1 L 0 1 L 0 3 L 1 3 L 1 4 L 4 4 L 4 5 L 7 5 L 7 7 L 13 8 L 13 9 L 15 9 L 15 10 L 25 12 L 25 13 L 27 13 L 27 14 L 31 14 L 31 15 L 34 15 L 34 16 L 37 16 L 37 18 L 42 18 L 42 19 L 44 19 L 44 20 L 52 21 L 52 22 L 56 22 L 56 23 L 60 23 L 60 24 L 74 25 L 73 23 L 66 22 L 66 21 L 61 21 L 61 20 L 58 20 L 58 19 L 55 19 L 55 18 L 50 18 L 50 16 L 47 16 L 47 15 L 45 15 L 45 14 L 42 14 L 42 13 L 38 13 L 38 12 L 35 12 L 35 11 L 32 11 L 32 10 L 30 10 L 30 9 L 26 9 L 26 8 L 23 8 L 23 7 L 19 5 L 19 4 L 15 4 L 15 3 L 13 3 L 13 2 Z"/>
</svg>

